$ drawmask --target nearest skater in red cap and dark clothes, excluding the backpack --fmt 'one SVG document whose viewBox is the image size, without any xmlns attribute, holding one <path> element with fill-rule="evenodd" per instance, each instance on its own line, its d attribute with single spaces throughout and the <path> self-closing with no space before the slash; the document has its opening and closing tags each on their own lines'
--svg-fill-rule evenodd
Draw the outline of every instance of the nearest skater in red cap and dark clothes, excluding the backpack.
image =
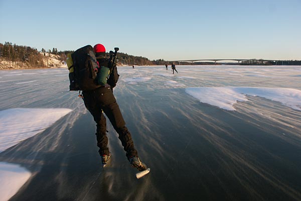
<svg viewBox="0 0 301 201">
<path fill-rule="evenodd" d="M 97 63 L 100 66 L 109 67 L 109 65 L 116 65 L 110 63 L 110 61 L 105 58 L 105 47 L 102 44 L 96 44 L 93 47 L 93 51 L 95 52 Z M 82 94 L 85 106 L 96 122 L 96 140 L 102 164 L 105 165 L 110 159 L 110 152 L 107 146 L 108 138 L 106 136 L 105 114 L 115 131 L 118 133 L 118 138 L 121 141 L 131 166 L 140 171 L 145 170 L 146 165 L 139 160 L 131 134 L 125 126 L 125 121 L 113 95 L 111 86 L 106 83 L 104 86 L 100 86 L 94 90 L 83 91 Z"/>
</svg>

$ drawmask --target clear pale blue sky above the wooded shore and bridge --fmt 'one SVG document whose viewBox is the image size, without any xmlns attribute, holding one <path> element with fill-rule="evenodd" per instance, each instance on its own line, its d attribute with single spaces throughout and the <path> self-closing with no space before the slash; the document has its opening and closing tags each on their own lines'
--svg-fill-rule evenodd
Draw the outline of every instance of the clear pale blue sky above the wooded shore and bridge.
<svg viewBox="0 0 301 201">
<path fill-rule="evenodd" d="M 300 0 L 0 0 L 0 43 L 150 60 L 301 60 Z"/>
</svg>

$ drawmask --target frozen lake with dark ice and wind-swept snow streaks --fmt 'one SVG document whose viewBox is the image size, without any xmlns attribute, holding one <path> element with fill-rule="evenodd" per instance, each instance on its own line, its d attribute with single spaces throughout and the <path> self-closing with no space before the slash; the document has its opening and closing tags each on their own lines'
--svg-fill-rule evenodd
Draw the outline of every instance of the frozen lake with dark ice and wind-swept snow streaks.
<svg viewBox="0 0 301 201">
<path fill-rule="evenodd" d="M 301 200 L 301 66 L 177 70 L 118 67 L 114 94 L 151 168 L 138 180 L 109 122 L 102 169 L 67 69 L 1 70 L 0 178 L 1 165 L 30 173 L 10 200 Z"/>
</svg>

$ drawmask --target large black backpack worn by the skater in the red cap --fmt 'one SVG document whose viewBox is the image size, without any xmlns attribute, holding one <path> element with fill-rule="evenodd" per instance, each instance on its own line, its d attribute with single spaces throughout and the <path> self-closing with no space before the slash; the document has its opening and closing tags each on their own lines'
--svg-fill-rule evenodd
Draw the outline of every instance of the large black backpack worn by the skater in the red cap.
<svg viewBox="0 0 301 201">
<path fill-rule="evenodd" d="M 91 45 L 76 50 L 68 57 L 67 66 L 69 69 L 69 89 L 72 90 L 93 90 L 100 87 L 95 78 L 97 76 L 98 64 Z M 72 61 L 72 62 L 71 62 Z M 69 65 L 72 63 L 72 65 Z"/>
</svg>

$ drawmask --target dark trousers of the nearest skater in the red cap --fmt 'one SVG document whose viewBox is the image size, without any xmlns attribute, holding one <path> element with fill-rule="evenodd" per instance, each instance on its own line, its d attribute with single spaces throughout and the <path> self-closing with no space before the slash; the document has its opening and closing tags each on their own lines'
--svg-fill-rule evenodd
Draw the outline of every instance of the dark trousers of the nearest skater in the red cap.
<svg viewBox="0 0 301 201">
<path fill-rule="evenodd" d="M 121 141 L 124 151 L 126 151 L 127 158 L 132 156 L 138 157 L 131 134 L 125 127 L 125 122 L 111 88 L 106 86 L 93 91 L 83 91 L 83 96 L 85 106 L 96 122 L 96 139 L 99 154 L 109 155 L 110 153 L 107 147 L 108 138 L 106 136 L 106 118 L 103 115 L 104 113 L 118 133 L 118 138 Z"/>
</svg>

